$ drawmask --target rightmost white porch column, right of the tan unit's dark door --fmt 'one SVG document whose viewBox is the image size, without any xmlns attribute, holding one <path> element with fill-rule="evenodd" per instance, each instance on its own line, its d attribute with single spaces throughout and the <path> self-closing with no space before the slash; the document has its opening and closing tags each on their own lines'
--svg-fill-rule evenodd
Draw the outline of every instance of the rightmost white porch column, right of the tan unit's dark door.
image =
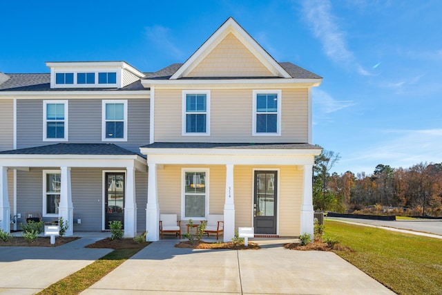
<svg viewBox="0 0 442 295">
<path fill-rule="evenodd" d="M 310 234 L 313 239 L 313 165 L 304 165 L 304 186 L 302 189 L 301 228 L 300 234 Z"/>
</svg>

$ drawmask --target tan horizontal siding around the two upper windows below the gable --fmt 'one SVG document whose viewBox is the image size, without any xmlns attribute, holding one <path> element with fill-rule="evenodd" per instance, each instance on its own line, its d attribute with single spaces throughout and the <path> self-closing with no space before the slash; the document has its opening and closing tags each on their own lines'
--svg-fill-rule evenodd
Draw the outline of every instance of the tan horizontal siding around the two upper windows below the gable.
<svg viewBox="0 0 442 295">
<path fill-rule="evenodd" d="M 252 136 L 253 89 L 212 89 L 211 135 L 182 136 L 182 91 L 158 89 L 155 142 L 307 142 L 307 97 L 307 89 L 282 89 L 281 136 Z"/>
</svg>

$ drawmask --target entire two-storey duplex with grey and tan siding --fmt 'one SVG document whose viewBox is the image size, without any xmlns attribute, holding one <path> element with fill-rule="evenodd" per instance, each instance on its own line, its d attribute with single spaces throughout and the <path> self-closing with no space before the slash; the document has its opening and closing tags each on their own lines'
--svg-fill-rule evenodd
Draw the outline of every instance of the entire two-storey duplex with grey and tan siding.
<svg viewBox="0 0 442 295">
<path fill-rule="evenodd" d="M 184 62 L 142 73 L 124 61 L 48 62 L 0 73 L 0 220 L 68 220 L 158 240 L 160 213 L 224 215 L 224 240 L 313 234 L 311 88 L 227 19 Z M 186 222 L 184 222 L 186 223 Z M 184 224 L 182 222 L 182 225 Z"/>
</svg>

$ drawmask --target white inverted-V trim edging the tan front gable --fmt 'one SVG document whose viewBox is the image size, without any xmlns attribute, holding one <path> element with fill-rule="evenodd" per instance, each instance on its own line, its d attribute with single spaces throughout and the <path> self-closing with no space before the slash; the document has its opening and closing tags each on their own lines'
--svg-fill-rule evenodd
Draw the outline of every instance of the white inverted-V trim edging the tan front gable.
<svg viewBox="0 0 442 295">
<path fill-rule="evenodd" d="M 204 57 L 209 55 L 229 33 L 235 35 L 238 40 L 246 46 L 255 57 L 276 77 L 291 78 L 280 64 L 276 62 L 267 51 L 265 51 L 258 42 L 256 42 L 241 26 L 231 17 L 225 21 L 218 30 L 216 30 L 207 41 L 202 44 L 193 55 L 179 68 L 170 79 L 179 79 L 189 74 Z"/>
</svg>

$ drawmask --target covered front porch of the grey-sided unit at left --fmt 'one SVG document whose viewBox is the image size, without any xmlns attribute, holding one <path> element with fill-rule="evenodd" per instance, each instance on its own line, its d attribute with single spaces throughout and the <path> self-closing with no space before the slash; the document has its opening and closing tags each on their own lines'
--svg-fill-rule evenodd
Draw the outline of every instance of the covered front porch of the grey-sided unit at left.
<svg viewBox="0 0 442 295">
<path fill-rule="evenodd" d="M 136 188 L 142 188 L 143 182 L 146 187 L 146 171 L 142 156 L 115 144 L 52 144 L 3 151 L 0 153 L 1 229 L 11 230 L 10 216 L 26 222 L 23 213 L 31 211 L 41 213 L 44 221 L 66 220 L 66 236 L 73 236 L 75 228 L 102 231 L 108 220 L 108 198 L 121 198 L 121 204 L 115 204 L 120 208 L 124 236 L 134 237 L 136 196 L 146 194 L 146 189 L 137 193 Z M 120 182 L 111 180 L 115 175 L 121 177 Z M 145 204 L 146 200 L 142 207 Z M 17 222 L 12 227 L 17 229 Z"/>
</svg>

